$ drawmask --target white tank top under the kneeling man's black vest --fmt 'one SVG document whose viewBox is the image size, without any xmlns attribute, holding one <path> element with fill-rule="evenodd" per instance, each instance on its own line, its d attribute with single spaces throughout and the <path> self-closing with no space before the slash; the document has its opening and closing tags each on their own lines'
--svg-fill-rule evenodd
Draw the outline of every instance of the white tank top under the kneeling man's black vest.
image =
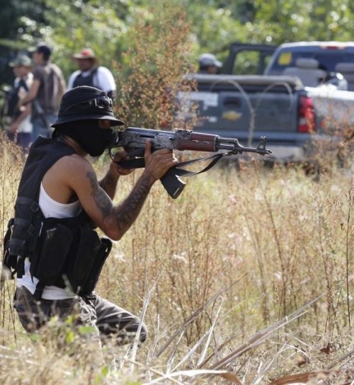
<svg viewBox="0 0 354 385">
<path fill-rule="evenodd" d="M 81 203 L 79 200 L 76 202 L 64 204 L 59 203 L 53 200 L 46 192 L 45 189 L 40 183 L 40 197 L 39 205 L 42 210 L 45 218 L 71 218 L 76 217 L 76 215 L 81 212 Z M 50 255 L 48 255 L 50 258 Z M 30 277 L 30 261 L 28 258 L 25 259 L 25 274 L 22 278 L 17 279 L 17 286 L 24 286 L 32 294 L 35 292 L 35 286 L 38 284 L 38 279 L 36 277 Z M 57 286 L 46 286 L 42 293 L 42 299 L 67 299 L 75 297 L 74 293 L 69 292 L 68 289 L 62 289 Z"/>
</svg>

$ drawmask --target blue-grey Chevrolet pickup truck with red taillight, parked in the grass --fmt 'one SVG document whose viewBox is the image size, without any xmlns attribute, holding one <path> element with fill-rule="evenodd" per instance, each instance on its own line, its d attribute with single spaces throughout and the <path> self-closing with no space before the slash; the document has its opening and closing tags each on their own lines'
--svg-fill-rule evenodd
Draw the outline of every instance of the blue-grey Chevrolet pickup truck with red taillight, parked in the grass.
<svg viewBox="0 0 354 385">
<path fill-rule="evenodd" d="M 326 60 L 322 68 L 314 67 L 320 53 Z M 297 63 L 307 64 L 304 74 L 296 72 Z M 192 105 L 198 103 L 196 132 L 236 137 L 248 146 L 256 146 L 265 136 L 274 160 L 307 161 L 314 149 L 321 144 L 328 148 L 338 142 L 344 128 L 354 125 L 354 92 L 324 82 L 338 63 L 354 63 L 354 44 L 282 45 L 273 50 L 266 75 L 188 74 L 185 78 L 194 81 L 197 90 L 178 93 L 183 120 L 193 117 Z"/>
</svg>

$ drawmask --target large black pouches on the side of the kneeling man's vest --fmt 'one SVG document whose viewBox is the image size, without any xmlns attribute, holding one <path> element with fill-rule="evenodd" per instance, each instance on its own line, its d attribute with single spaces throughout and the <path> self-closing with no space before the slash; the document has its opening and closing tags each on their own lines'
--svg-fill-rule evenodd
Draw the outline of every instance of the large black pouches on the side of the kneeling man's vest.
<svg viewBox="0 0 354 385">
<path fill-rule="evenodd" d="M 40 253 L 30 260 L 30 273 L 39 280 L 35 297 L 40 299 L 50 285 L 82 296 L 93 292 L 112 248 L 109 239 L 100 239 L 87 223 L 74 229 L 58 223 L 43 231 L 41 243 Z"/>
</svg>

